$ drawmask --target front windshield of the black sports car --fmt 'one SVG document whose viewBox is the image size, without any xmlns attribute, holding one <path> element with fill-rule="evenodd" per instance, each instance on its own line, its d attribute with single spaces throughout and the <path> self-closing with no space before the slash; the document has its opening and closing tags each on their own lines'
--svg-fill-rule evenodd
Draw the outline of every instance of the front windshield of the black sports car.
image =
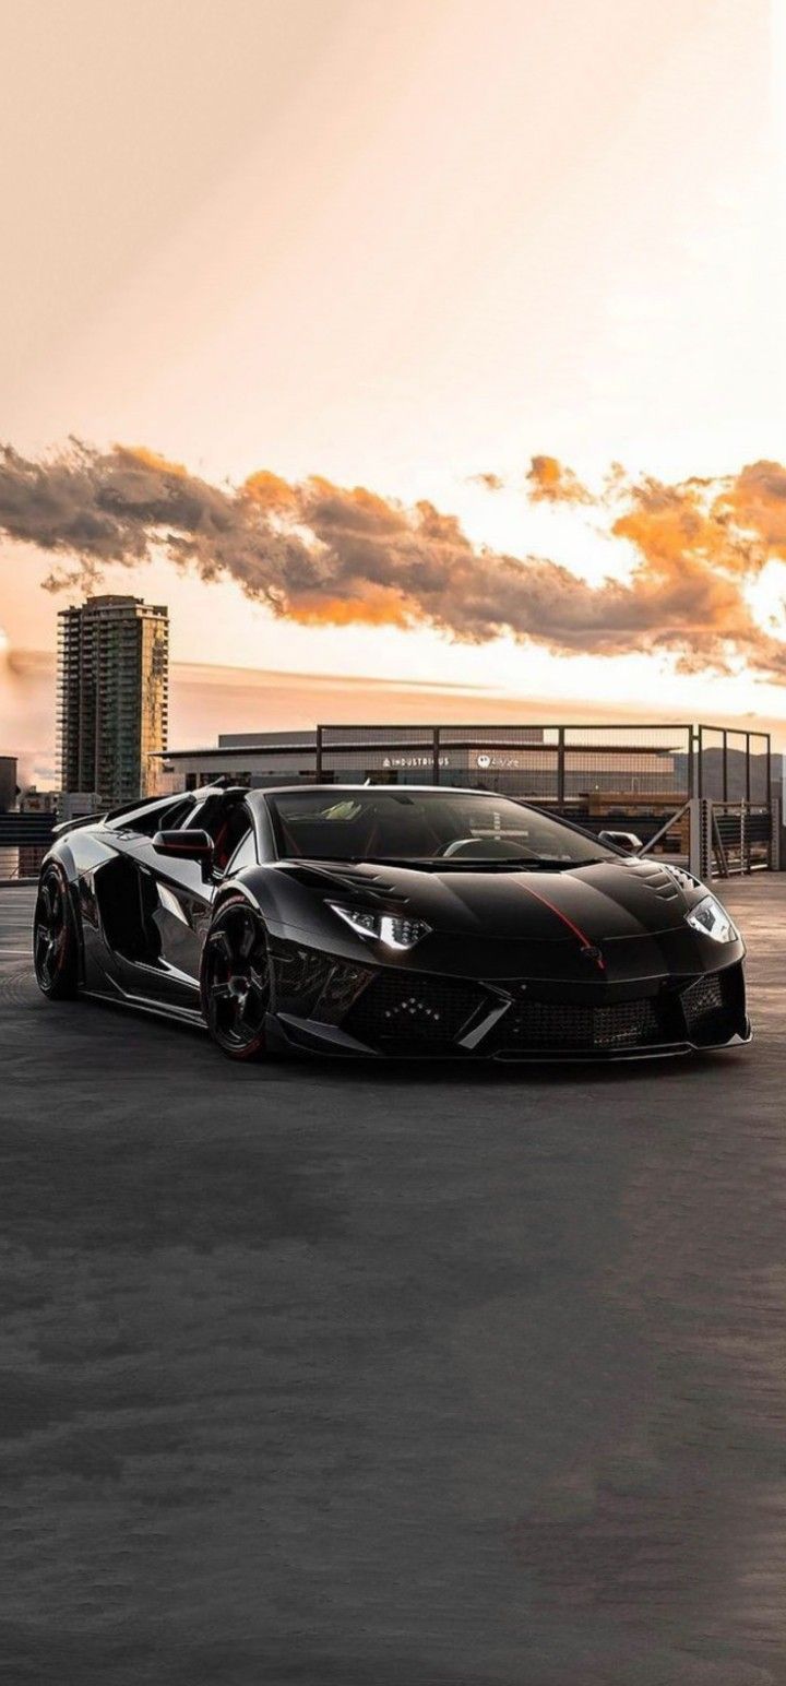
<svg viewBox="0 0 786 1686">
<path fill-rule="evenodd" d="M 560 868 L 619 860 L 595 838 L 474 791 L 282 791 L 268 796 L 285 860 L 484 862 Z"/>
</svg>

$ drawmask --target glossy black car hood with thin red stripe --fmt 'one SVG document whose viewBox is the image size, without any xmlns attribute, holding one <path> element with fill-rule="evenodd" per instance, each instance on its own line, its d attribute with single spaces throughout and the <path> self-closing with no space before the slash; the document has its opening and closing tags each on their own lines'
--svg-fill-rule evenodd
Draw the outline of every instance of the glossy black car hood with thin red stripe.
<svg viewBox="0 0 786 1686">
<path fill-rule="evenodd" d="M 683 929 L 703 894 L 688 875 L 656 862 L 619 860 L 560 872 L 418 868 L 395 863 L 299 863 L 336 900 L 418 915 L 435 932 L 508 941 L 595 944 Z M 681 882 L 680 882 L 681 880 Z"/>
</svg>

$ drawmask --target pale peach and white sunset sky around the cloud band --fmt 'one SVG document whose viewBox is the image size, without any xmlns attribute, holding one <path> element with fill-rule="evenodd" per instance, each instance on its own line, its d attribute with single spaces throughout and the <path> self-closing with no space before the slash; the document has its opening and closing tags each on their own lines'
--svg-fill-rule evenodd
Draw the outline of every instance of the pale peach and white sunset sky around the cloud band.
<svg viewBox="0 0 786 1686">
<path fill-rule="evenodd" d="M 329 587 L 299 590 L 285 573 L 278 612 L 256 585 L 253 600 L 243 592 L 234 553 L 211 582 L 204 545 L 180 566 L 160 534 L 133 566 L 101 553 L 103 588 L 170 605 L 177 661 L 472 685 L 555 715 L 663 700 L 686 717 L 786 722 L 786 477 L 783 491 L 774 474 L 764 491 L 744 477 L 786 457 L 781 5 L 0 12 L 0 440 L 27 462 L 86 442 L 100 497 L 116 487 L 115 445 L 142 447 L 135 460 L 184 465 L 229 497 L 233 523 L 234 489 L 275 475 L 266 540 L 285 528 L 319 556 L 337 518 L 304 491 L 312 477 L 331 497 L 378 499 L 361 583 L 344 545 Z M 543 457 L 587 496 L 538 496 L 530 465 Z M 685 560 L 678 545 L 668 578 L 663 526 L 656 541 L 641 531 L 654 507 L 644 477 L 712 481 L 708 550 Z M 86 474 L 69 487 L 88 496 Z M 433 585 L 410 592 L 432 556 L 433 523 L 408 514 L 423 501 L 460 524 L 457 550 L 437 533 L 439 604 Z M 359 507 L 341 513 L 342 531 Z M 405 585 L 386 572 L 400 519 Z M 729 519 L 759 546 L 744 565 L 713 550 Z M 0 627 L 10 651 L 52 649 L 56 610 L 79 593 L 42 582 L 67 572 L 67 546 L 61 534 L 52 550 L 40 511 L 17 528 L 0 536 Z M 535 558 L 546 600 L 550 566 L 606 590 L 602 637 L 582 642 L 575 593 L 568 632 L 528 605 L 501 627 L 484 607 L 467 632 L 479 568 L 482 592 L 506 588 L 499 558 Z M 698 566 L 680 649 L 675 580 Z M 629 614 L 609 582 L 631 580 Z M 0 681 L 0 723 L 2 706 Z"/>
</svg>

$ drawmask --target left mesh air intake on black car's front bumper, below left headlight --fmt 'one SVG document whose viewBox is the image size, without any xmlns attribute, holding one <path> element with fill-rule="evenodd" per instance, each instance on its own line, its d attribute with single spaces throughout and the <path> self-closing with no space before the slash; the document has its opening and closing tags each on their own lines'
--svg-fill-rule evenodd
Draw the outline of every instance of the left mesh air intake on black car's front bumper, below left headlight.
<svg viewBox="0 0 786 1686">
<path fill-rule="evenodd" d="M 450 1044 L 487 1000 L 482 990 L 450 978 L 378 973 L 342 1028 L 371 1044 Z"/>
</svg>

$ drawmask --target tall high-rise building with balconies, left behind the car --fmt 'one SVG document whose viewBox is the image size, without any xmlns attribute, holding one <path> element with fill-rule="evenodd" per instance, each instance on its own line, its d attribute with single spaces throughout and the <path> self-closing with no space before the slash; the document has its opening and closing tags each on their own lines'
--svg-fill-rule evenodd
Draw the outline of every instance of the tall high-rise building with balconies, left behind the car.
<svg viewBox="0 0 786 1686">
<path fill-rule="evenodd" d="M 88 597 L 57 615 L 57 749 L 64 791 L 101 803 L 155 796 L 167 747 L 169 614 L 140 597 Z"/>
</svg>

